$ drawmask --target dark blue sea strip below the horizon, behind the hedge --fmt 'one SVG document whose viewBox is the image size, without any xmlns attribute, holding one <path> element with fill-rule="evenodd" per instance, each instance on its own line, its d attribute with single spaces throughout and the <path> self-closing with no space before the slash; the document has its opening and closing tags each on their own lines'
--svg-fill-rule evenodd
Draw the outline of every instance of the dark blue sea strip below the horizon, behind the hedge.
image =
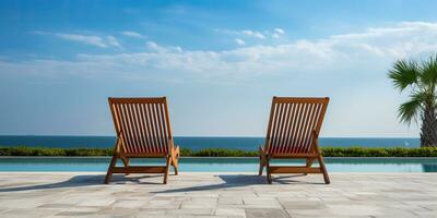
<svg viewBox="0 0 437 218">
<path fill-rule="evenodd" d="M 257 150 L 265 142 L 264 137 L 198 137 L 175 136 L 175 143 L 184 148 L 233 148 Z M 56 148 L 111 148 L 114 136 L 43 136 L 0 135 L 0 147 L 29 146 Z M 321 147 L 420 147 L 420 138 L 410 137 L 321 137 Z"/>
</svg>

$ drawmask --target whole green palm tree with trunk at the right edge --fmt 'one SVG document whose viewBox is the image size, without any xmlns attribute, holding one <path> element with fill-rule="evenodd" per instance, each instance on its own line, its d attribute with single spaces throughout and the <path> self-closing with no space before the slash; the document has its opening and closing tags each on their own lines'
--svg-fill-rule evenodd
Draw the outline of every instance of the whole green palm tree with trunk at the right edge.
<svg viewBox="0 0 437 218">
<path fill-rule="evenodd" d="M 400 120 L 410 125 L 420 118 L 421 146 L 437 146 L 437 55 L 423 62 L 398 60 L 388 76 L 397 89 L 410 93 L 399 107 Z"/>
</svg>

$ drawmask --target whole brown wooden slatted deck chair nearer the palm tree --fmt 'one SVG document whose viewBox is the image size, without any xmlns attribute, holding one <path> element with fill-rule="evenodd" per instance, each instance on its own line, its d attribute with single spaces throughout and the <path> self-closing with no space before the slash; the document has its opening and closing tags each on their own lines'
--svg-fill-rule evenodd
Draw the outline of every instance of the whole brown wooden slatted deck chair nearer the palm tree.
<svg viewBox="0 0 437 218">
<path fill-rule="evenodd" d="M 274 173 L 323 173 L 330 183 L 318 136 L 329 98 L 273 97 L 264 147 L 260 147 L 260 168 L 267 168 L 267 179 L 272 183 Z M 306 159 L 306 166 L 270 166 L 271 159 Z M 311 167 L 315 160 L 319 167 Z"/>
</svg>

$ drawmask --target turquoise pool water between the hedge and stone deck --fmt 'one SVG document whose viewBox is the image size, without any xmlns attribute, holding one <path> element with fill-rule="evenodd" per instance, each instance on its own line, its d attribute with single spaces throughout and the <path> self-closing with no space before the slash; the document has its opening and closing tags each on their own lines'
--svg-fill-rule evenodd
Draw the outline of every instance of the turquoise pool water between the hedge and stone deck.
<svg viewBox="0 0 437 218">
<path fill-rule="evenodd" d="M 257 172 L 258 158 L 181 158 L 187 172 Z M 437 158 L 326 158 L 330 172 L 437 172 Z M 106 171 L 107 157 L 1 157 L 0 171 Z M 297 165 L 281 160 L 273 165 Z M 132 165 L 164 165 L 160 159 L 135 159 Z"/>
</svg>

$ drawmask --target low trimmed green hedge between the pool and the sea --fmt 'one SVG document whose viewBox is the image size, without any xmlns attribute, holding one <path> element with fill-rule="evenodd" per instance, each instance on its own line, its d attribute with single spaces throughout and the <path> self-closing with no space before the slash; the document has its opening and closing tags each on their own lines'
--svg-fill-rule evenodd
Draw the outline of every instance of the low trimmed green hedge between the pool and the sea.
<svg viewBox="0 0 437 218">
<path fill-rule="evenodd" d="M 256 150 L 206 148 L 191 150 L 182 148 L 184 157 L 257 157 Z M 0 147 L 0 156 L 110 156 L 110 148 L 45 148 L 45 147 Z M 437 147 L 422 148 L 365 148 L 323 147 L 324 157 L 437 157 Z"/>
</svg>

